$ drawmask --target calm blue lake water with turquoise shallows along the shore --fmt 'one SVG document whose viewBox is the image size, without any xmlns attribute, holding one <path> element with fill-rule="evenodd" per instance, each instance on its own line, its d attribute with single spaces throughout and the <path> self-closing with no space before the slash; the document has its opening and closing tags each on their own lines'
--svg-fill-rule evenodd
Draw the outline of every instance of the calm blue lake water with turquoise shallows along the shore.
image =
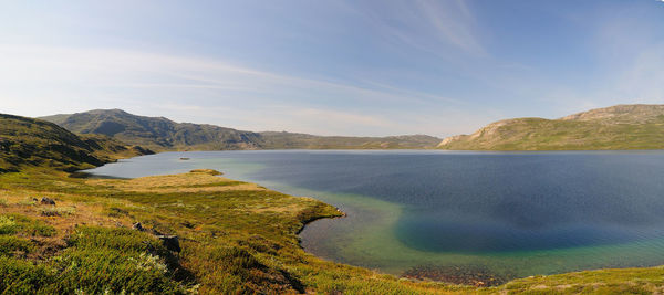
<svg viewBox="0 0 664 295">
<path fill-rule="evenodd" d="M 387 273 L 427 265 L 516 277 L 664 264 L 663 151 L 165 152 L 90 171 L 194 168 L 339 207 L 349 217 L 308 225 L 304 249 Z"/>
</svg>

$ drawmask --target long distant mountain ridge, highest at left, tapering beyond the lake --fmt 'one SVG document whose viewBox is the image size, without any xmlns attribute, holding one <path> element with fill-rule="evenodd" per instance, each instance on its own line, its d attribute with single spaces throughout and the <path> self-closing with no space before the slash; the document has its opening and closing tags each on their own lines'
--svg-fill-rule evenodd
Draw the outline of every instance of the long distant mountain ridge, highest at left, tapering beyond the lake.
<svg viewBox="0 0 664 295">
<path fill-rule="evenodd" d="M 154 150 L 433 148 L 440 141 L 426 135 L 350 137 L 253 133 L 207 124 L 176 123 L 164 117 L 137 116 L 122 109 L 95 109 L 41 118 L 76 134 L 103 134 Z"/>
</svg>

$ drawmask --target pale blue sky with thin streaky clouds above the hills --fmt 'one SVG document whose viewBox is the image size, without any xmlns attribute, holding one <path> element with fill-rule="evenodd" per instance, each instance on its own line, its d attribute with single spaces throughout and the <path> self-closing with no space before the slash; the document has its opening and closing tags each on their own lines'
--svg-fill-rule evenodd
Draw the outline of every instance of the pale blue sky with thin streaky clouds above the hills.
<svg viewBox="0 0 664 295">
<path fill-rule="evenodd" d="M 0 0 L 0 113 L 469 134 L 664 103 L 662 0 Z"/>
</svg>

